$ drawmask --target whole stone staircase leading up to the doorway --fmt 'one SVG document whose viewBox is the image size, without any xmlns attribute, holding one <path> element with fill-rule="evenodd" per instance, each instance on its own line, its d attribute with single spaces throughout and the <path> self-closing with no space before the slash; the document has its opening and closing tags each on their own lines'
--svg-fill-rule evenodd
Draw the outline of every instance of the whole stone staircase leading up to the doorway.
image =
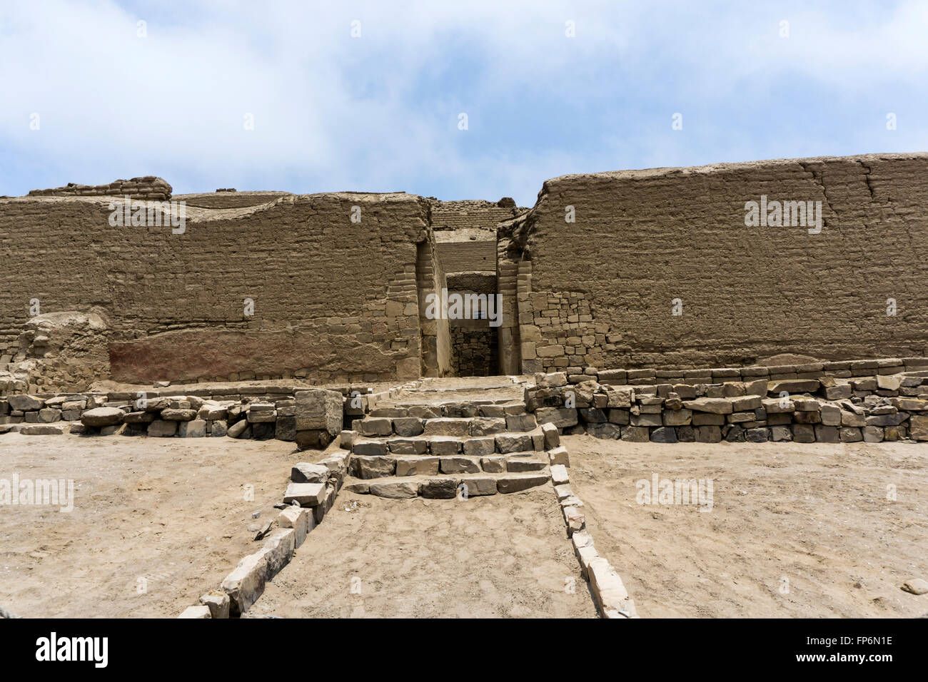
<svg viewBox="0 0 928 682">
<path fill-rule="evenodd" d="M 512 493 L 550 480 L 550 464 L 558 463 L 552 457 L 563 450 L 558 431 L 526 413 L 521 386 L 426 385 L 373 407 L 342 431 L 342 448 L 351 452 L 348 490 L 452 498 Z"/>
</svg>

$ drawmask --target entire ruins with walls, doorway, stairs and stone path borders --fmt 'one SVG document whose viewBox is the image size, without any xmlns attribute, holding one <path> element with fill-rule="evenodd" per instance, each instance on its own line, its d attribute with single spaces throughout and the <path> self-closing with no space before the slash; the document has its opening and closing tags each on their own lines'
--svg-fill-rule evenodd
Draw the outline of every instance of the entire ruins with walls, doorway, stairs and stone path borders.
<svg viewBox="0 0 928 682">
<path fill-rule="evenodd" d="M 186 617 L 248 611 L 342 490 L 547 483 L 600 614 L 633 617 L 561 436 L 928 443 L 926 205 L 924 153 L 565 175 L 531 208 L 156 176 L 2 198 L 0 444 L 325 450 Z"/>
</svg>

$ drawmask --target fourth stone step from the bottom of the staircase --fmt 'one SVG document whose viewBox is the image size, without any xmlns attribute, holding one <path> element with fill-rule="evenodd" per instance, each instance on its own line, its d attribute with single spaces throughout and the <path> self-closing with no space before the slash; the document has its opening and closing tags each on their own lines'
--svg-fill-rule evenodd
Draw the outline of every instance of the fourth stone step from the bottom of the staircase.
<svg viewBox="0 0 928 682">
<path fill-rule="evenodd" d="M 389 436 L 484 436 L 502 431 L 532 431 L 538 426 L 535 415 L 501 417 L 365 417 L 352 421 L 359 435 Z"/>
</svg>

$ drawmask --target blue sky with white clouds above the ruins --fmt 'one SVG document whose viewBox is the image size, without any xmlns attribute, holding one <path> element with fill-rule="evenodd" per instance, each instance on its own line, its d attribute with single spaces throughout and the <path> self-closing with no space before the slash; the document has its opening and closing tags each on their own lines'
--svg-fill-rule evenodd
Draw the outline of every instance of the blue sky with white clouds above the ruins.
<svg viewBox="0 0 928 682">
<path fill-rule="evenodd" d="M 0 195 L 531 206 L 563 174 L 926 149 L 924 0 L 0 3 Z"/>
</svg>

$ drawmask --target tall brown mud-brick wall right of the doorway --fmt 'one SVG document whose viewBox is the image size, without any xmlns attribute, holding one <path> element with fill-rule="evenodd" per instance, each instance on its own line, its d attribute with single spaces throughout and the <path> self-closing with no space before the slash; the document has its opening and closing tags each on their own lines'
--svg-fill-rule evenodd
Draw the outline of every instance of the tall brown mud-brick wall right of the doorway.
<svg viewBox="0 0 928 682">
<path fill-rule="evenodd" d="M 745 226 L 761 195 L 821 201 L 820 233 Z M 928 354 L 923 153 L 566 175 L 500 233 L 524 371 Z"/>
</svg>

